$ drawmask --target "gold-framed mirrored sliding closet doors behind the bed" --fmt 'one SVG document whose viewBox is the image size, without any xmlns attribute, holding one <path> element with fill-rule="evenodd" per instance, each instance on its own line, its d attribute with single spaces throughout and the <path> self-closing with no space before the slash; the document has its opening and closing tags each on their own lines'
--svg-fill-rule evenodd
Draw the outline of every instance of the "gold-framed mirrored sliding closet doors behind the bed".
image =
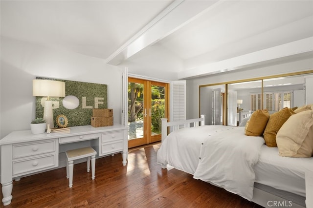
<svg viewBox="0 0 313 208">
<path fill-rule="evenodd" d="M 200 86 L 200 114 L 207 115 L 206 125 L 244 126 L 257 109 L 267 108 L 272 114 L 284 107 L 312 104 L 313 74 L 264 79 L 263 95 L 262 80 L 227 84 L 227 109 L 225 89 L 226 84 Z"/>
</svg>

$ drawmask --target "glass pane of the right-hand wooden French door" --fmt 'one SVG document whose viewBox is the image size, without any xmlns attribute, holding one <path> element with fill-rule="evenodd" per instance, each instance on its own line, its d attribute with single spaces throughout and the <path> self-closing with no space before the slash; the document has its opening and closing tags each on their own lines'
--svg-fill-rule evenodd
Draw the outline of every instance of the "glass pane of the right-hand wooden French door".
<svg viewBox="0 0 313 208">
<path fill-rule="evenodd" d="M 151 85 L 151 135 L 161 134 L 161 118 L 165 118 L 165 87 Z"/>
</svg>

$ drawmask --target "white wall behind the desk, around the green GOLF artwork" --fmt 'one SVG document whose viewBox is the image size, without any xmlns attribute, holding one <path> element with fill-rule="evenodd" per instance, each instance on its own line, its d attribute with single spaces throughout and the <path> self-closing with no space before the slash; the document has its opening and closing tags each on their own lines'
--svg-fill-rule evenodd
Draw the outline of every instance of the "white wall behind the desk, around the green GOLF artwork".
<svg viewBox="0 0 313 208">
<path fill-rule="evenodd" d="M 102 59 L 5 37 L 0 43 L 0 138 L 30 129 L 36 76 L 108 84 L 108 108 L 113 109 L 114 123 L 121 123 L 122 69 Z"/>
</svg>

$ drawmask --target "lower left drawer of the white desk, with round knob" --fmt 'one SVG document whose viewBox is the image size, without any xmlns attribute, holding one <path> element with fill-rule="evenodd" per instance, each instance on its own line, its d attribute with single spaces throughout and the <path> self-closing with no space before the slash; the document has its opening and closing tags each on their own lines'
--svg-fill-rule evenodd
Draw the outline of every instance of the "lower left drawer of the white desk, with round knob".
<svg viewBox="0 0 313 208">
<path fill-rule="evenodd" d="M 25 175 L 28 173 L 57 167 L 58 157 L 55 154 L 36 157 L 29 160 L 15 161 L 12 164 L 12 175 Z"/>
</svg>

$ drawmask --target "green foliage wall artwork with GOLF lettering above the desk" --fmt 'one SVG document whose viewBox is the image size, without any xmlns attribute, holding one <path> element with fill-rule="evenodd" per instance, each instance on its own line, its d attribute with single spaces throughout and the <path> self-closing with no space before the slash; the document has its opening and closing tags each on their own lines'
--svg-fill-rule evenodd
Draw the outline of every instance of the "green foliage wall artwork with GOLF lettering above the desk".
<svg viewBox="0 0 313 208">
<path fill-rule="evenodd" d="M 55 80 L 65 82 L 65 95 L 75 96 L 78 101 L 78 107 L 67 109 L 63 105 L 63 99 L 50 97 L 52 101 L 52 111 L 54 126 L 56 117 L 60 114 L 68 119 L 68 126 L 90 125 L 92 108 L 108 108 L 107 84 L 85 83 L 68 80 L 58 80 L 36 77 L 36 79 Z M 45 97 L 36 97 L 36 118 L 44 116 Z"/>
</svg>

